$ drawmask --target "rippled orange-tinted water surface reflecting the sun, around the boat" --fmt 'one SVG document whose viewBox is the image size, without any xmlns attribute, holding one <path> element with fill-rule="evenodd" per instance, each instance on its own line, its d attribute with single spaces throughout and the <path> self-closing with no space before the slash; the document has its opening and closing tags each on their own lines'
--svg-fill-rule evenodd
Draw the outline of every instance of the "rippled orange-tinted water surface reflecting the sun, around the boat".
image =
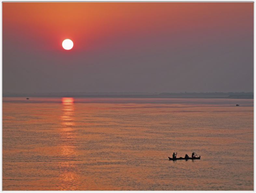
<svg viewBox="0 0 256 193">
<path fill-rule="evenodd" d="M 252 99 L 72 101 L 3 98 L 3 190 L 253 190 Z"/>
</svg>

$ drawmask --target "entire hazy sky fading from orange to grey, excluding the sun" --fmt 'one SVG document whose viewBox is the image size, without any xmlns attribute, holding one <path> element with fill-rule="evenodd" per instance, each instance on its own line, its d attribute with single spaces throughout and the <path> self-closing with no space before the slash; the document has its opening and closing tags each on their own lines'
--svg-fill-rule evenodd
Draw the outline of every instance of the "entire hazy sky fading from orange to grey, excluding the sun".
<svg viewBox="0 0 256 193">
<path fill-rule="evenodd" d="M 123 91 L 253 92 L 253 2 L 3 2 L 3 93 Z"/>
</svg>

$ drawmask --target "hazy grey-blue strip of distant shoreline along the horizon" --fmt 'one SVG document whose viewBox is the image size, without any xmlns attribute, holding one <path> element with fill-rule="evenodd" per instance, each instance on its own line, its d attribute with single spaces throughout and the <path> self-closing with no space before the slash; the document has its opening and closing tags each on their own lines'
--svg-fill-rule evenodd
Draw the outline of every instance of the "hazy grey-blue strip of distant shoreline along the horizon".
<svg viewBox="0 0 256 193">
<path fill-rule="evenodd" d="M 253 99 L 253 93 L 214 92 L 214 93 L 136 93 L 136 92 L 99 92 L 99 93 L 4 93 L 3 97 L 108 97 L 108 98 L 243 98 Z"/>
</svg>

